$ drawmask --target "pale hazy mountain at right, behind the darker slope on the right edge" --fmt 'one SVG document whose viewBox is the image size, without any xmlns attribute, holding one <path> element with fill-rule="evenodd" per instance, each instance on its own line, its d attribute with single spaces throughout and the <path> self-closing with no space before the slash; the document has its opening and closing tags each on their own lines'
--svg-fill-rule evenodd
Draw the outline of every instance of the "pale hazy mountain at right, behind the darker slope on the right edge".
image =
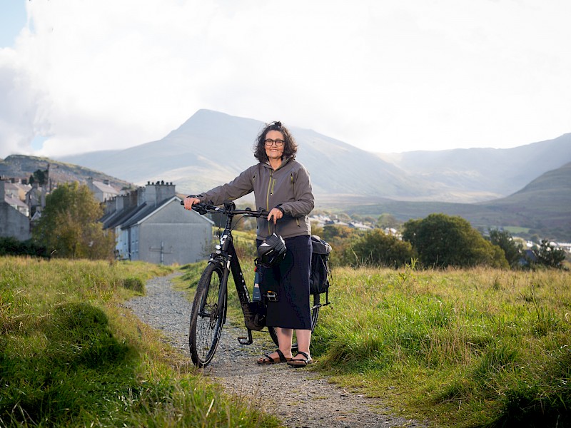
<svg viewBox="0 0 571 428">
<path fill-rule="evenodd" d="M 461 193 L 500 198 L 523 188 L 548 170 L 571 162 L 571 133 L 508 149 L 470 148 L 377 154 L 415 178 Z M 492 198 L 490 198 L 492 196 Z"/>
</svg>

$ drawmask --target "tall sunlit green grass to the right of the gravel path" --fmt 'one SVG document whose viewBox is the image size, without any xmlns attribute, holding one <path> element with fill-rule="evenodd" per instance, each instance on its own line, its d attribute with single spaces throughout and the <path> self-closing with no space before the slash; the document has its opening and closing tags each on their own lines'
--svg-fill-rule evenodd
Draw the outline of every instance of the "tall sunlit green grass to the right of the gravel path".
<svg viewBox="0 0 571 428">
<path fill-rule="evenodd" d="M 313 354 L 442 427 L 571 424 L 571 275 L 338 268 Z"/>
</svg>

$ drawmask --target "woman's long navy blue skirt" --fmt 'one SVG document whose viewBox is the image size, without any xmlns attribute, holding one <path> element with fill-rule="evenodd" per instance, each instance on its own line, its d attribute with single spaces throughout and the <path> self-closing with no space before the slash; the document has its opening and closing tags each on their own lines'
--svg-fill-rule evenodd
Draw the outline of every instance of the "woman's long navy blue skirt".
<svg viewBox="0 0 571 428">
<path fill-rule="evenodd" d="M 257 241 L 258 245 L 261 240 Z M 285 259 L 273 267 L 260 267 L 260 291 L 278 295 L 277 302 L 268 302 L 266 325 L 269 327 L 311 330 L 309 307 L 309 268 L 311 238 L 294 236 L 285 239 Z"/>
</svg>

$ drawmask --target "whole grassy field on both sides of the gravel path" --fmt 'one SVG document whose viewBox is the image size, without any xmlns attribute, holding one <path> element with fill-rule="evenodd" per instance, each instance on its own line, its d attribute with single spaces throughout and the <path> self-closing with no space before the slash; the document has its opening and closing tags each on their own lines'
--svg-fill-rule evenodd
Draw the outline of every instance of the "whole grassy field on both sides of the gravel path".
<svg viewBox="0 0 571 428">
<path fill-rule="evenodd" d="M 172 270 L 0 258 L 0 426 L 277 427 L 121 307 Z M 570 285 L 555 270 L 335 268 L 315 368 L 432 427 L 567 427 Z"/>
</svg>

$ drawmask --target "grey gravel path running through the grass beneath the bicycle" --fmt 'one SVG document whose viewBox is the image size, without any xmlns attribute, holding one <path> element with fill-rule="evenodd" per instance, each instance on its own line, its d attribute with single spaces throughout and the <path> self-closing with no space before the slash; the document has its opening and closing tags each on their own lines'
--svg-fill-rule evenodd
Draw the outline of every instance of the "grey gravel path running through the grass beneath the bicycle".
<svg viewBox="0 0 571 428">
<path fill-rule="evenodd" d="M 171 278 L 156 277 L 146 283 L 146 295 L 125 303 L 139 319 L 162 330 L 173 347 L 188 354 L 188 319 L 191 302 L 183 292 L 173 290 Z M 285 364 L 261 366 L 256 359 L 275 349 L 267 340 L 254 339 L 253 345 L 240 345 L 236 337 L 245 328 L 225 325 L 216 355 L 204 376 L 222 384 L 226 392 L 259 403 L 266 412 L 276 414 L 285 427 L 426 427 L 410 419 L 390 415 L 382 400 L 353 394 L 328 382 L 309 369 L 294 369 Z"/>
</svg>

